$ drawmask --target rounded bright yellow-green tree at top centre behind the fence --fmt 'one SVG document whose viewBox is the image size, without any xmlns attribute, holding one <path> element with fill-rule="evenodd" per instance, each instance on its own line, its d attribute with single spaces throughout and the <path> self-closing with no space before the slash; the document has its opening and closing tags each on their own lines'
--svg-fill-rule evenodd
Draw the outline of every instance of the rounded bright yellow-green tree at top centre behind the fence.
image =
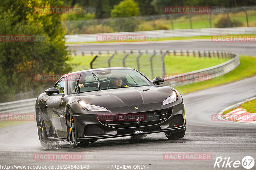
<svg viewBox="0 0 256 170">
<path fill-rule="evenodd" d="M 133 0 L 124 0 L 118 5 L 114 6 L 114 9 L 111 10 L 111 17 L 131 17 L 138 16 L 140 12 L 139 6 Z"/>
</svg>

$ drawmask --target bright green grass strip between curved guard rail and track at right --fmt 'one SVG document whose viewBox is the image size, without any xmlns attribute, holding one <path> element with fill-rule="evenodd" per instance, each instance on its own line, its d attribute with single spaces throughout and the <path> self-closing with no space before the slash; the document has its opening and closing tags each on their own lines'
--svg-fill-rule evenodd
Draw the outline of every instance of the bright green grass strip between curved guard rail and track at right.
<svg viewBox="0 0 256 170">
<path fill-rule="evenodd" d="M 188 84 L 174 88 L 177 89 L 181 94 L 185 94 L 192 91 L 210 88 L 256 75 L 256 58 L 244 55 L 240 55 L 239 58 L 240 65 L 236 67 L 234 70 L 228 72 L 227 74 L 224 74 L 220 77 L 216 77 L 212 80 L 200 81 L 193 84 Z"/>
</svg>

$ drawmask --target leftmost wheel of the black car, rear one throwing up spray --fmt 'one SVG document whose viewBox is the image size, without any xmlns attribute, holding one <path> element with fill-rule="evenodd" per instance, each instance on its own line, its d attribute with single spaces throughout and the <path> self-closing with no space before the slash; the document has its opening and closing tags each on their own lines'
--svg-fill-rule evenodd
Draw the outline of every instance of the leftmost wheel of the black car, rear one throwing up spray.
<svg viewBox="0 0 256 170">
<path fill-rule="evenodd" d="M 60 142 L 57 140 L 48 139 L 48 135 L 47 135 L 45 124 L 44 124 L 44 119 L 41 113 L 38 114 L 36 123 L 37 123 L 38 137 L 41 145 L 44 148 L 48 148 L 48 149 L 57 148 Z"/>
</svg>

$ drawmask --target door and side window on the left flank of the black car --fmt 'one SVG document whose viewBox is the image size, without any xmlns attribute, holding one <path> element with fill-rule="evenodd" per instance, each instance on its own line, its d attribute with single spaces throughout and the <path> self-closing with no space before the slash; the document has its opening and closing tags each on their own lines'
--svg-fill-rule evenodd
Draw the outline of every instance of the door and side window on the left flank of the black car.
<svg viewBox="0 0 256 170">
<path fill-rule="evenodd" d="M 67 128 L 63 129 L 62 127 L 66 126 L 65 122 L 65 94 L 64 94 L 64 86 L 65 86 L 65 78 L 63 77 L 60 79 L 56 85 L 55 88 L 60 90 L 60 93 L 63 93 L 63 96 L 50 96 L 48 100 L 46 101 L 47 106 L 47 113 L 49 115 L 51 125 L 52 125 L 52 131 L 49 132 L 49 136 L 53 134 L 57 134 L 59 138 L 66 138 L 67 137 Z"/>
</svg>

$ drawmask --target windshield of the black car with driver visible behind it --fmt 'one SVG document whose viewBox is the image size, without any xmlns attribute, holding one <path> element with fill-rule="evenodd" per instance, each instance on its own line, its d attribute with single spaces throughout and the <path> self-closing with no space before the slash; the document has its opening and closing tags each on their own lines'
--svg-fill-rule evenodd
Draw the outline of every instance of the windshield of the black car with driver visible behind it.
<svg viewBox="0 0 256 170">
<path fill-rule="evenodd" d="M 69 75 L 69 94 L 77 93 L 78 86 L 80 87 L 80 93 L 99 90 L 98 78 L 100 80 L 101 90 L 152 85 L 143 75 L 141 75 L 136 70 L 108 69 L 93 71 L 93 73 L 96 75 L 96 80 L 92 72 L 81 73 L 77 88 L 76 81 L 79 77 L 79 74 Z"/>
</svg>

